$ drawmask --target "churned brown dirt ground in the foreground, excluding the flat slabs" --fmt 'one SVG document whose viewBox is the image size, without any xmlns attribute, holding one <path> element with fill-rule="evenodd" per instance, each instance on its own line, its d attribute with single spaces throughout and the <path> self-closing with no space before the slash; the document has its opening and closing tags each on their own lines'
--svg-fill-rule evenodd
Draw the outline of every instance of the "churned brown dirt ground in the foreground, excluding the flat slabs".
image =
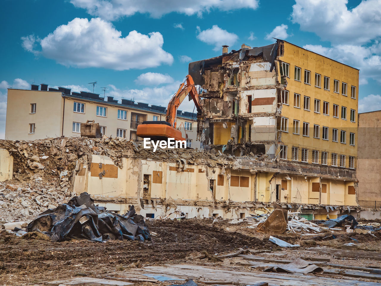
<svg viewBox="0 0 381 286">
<path fill-rule="evenodd" d="M 25 239 L 3 231 L 0 233 L 0 285 L 28 285 L 83 275 L 113 275 L 130 267 L 186 262 L 187 255 L 192 252 L 206 251 L 208 255 L 214 255 L 232 252 L 240 247 L 281 250 L 269 242 L 269 235 L 258 233 L 255 229 L 242 228 L 245 223 L 232 225 L 226 220 L 215 224 L 212 222 L 212 219 L 147 222 L 150 231 L 157 233 L 149 243 L 94 243 L 87 240 L 56 243 L 41 234 L 36 236 L 31 233 Z M 350 234 L 359 241 L 359 245 L 380 247 L 381 234 L 375 232 L 375 235 Z M 319 241 L 311 243 L 311 237 L 277 237 L 290 243 L 302 242 L 302 246 L 305 241 L 306 247 L 319 244 Z M 347 242 L 353 240 L 346 233 L 338 234 L 338 239 L 335 239 L 337 245 Z"/>
</svg>

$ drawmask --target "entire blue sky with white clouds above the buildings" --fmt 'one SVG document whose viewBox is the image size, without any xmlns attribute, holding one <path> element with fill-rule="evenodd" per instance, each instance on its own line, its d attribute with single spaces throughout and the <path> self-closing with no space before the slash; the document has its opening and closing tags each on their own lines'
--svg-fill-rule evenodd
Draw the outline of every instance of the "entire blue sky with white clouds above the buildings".
<svg viewBox="0 0 381 286">
<path fill-rule="evenodd" d="M 2 10 L 0 138 L 8 87 L 97 81 L 96 93 L 166 106 L 189 61 L 271 37 L 360 69 L 359 112 L 381 109 L 381 0 L 3 0 Z"/>
</svg>

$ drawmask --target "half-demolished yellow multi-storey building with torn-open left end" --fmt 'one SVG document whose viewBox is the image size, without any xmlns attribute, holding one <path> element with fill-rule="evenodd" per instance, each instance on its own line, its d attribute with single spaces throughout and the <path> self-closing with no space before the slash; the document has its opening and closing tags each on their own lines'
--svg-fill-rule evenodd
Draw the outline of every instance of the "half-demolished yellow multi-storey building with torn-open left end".
<svg viewBox="0 0 381 286">
<path fill-rule="evenodd" d="M 257 158 L 257 201 L 358 205 L 358 69 L 276 40 L 223 46 L 189 74 L 203 89 L 205 144 Z"/>
</svg>

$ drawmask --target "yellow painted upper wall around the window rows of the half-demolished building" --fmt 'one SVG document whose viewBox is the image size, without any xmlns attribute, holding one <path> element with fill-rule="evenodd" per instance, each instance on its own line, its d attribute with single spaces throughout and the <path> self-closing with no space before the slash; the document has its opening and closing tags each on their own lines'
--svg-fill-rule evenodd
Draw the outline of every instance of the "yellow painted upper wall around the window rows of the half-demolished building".
<svg viewBox="0 0 381 286">
<path fill-rule="evenodd" d="M 282 142 L 288 146 L 288 159 L 291 160 L 291 147 L 299 147 L 299 161 L 301 148 L 310 150 L 309 162 L 312 162 L 312 149 L 319 151 L 319 163 L 321 151 L 328 152 L 328 165 L 331 165 L 331 153 L 346 155 L 346 167 L 348 156 L 357 157 L 357 111 L 359 92 L 359 71 L 352 67 L 325 58 L 311 51 L 284 42 L 284 56 L 280 61 L 290 64 L 290 78 L 287 79 L 289 91 L 289 105 L 283 104 L 282 116 L 288 118 L 288 133 L 282 132 Z M 294 79 L 295 66 L 301 68 L 301 81 Z M 304 70 L 311 71 L 311 85 L 304 83 Z M 315 87 L 315 72 L 321 75 L 321 88 Z M 324 90 L 324 76 L 330 77 L 330 91 Z M 339 93 L 335 93 L 334 79 L 339 80 Z M 279 77 L 280 80 L 280 77 Z M 342 82 L 347 83 L 347 96 L 341 94 Z M 356 99 L 351 98 L 351 85 L 356 87 Z M 300 94 L 300 107 L 294 107 L 294 93 Z M 310 111 L 303 109 L 304 95 L 310 97 Z M 320 114 L 314 112 L 314 100 L 320 100 Z M 323 115 L 323 101 L 329 102 L 329 115 Z M 333 104 L 339 105 L 339 118 L 333 117 Z M 341 119 L 341 106 L 347 108 L 347 120 Z M 355 110 L 355 121 L 350 121 L 350 110 Z M 293 120 L 299 120 L 300 135 L 293 134 Z M 303 136 L 303 122 L 310 126 L 309 137 Z M 320 126 L 320 139 L 313 137 L 314 124 Z M 322 139 L 322 126 L 329 127 L 328 141 Z M 338 129 L 338 142 L 332 141 L 332 128 Z M 340 130 L 346 131 L 346 144 L 340 143 Z M 349 145 L 349 133 L 355 133 L 355 146 Z M 339 158 L 338 158 L 339 159 Z M 339 162 L 338 162 L 339 164 Z M 356 163 L 355 163 L 356 165 Z"/>
</svg>

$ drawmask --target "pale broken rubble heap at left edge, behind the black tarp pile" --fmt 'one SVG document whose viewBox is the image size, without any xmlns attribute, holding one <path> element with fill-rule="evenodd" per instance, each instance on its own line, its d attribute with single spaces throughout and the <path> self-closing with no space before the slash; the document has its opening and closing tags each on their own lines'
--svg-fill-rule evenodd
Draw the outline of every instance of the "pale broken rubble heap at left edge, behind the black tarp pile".
<svg viewBox="0 0 381 286">
<path fill-rule="evenodd" d="M 0 220 L 13 222 L 33 219 L 74 195 L 67 186 L 44 182 L 41 177 L 19 185 L 0 182 Z"/>
</svg>

